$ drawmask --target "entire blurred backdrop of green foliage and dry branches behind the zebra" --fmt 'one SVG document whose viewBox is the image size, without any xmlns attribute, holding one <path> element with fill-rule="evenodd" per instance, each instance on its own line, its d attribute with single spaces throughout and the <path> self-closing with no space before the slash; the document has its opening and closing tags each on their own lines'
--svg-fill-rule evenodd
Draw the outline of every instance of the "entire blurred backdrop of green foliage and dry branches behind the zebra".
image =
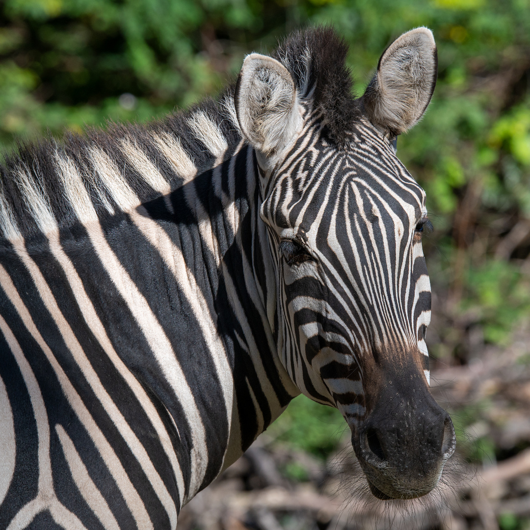
<svg viewBox="0 0 530 530">
<path fill-rule="evenodd" d="M 434 31 L 437 88 L 398 156 L 427 191 L 432 391 L 458 455 L 425 502 L 373 502 L 340 414 L 303 397 L 182 528 L 530 529 L 530 1 L 3 0 L 0 146 L 213 95 L 306 24 L 350 44 L 361 94 L 385 47 Z"/>
</svg>

